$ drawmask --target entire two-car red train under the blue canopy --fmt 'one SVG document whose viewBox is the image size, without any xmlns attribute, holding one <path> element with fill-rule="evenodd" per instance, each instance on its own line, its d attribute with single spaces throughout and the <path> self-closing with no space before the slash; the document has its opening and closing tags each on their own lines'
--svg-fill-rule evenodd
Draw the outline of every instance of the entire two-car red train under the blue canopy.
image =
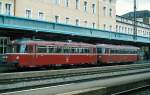
<svg viewBox="0 0 150 95">
<path fill-rule="evenodd" d="M 51 65 L 127 63 L 139 60 L 138 47 L 54 41 L 13 41 L 7 64 L 19 68 Z"/>
</svg>

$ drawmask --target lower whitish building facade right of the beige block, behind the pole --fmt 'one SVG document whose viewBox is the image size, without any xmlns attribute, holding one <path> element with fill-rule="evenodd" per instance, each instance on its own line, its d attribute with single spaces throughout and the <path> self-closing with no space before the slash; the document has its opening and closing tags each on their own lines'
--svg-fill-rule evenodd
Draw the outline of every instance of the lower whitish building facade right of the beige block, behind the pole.
<svg viewBox="0 0 150 95">
<path fill-rule="evenodd" d="M 116 16 L 116 32 L 134 34 L 134 21 Z M 137 36 L 150 37 L 150 25 L 137 21 Z"/>
</svg>

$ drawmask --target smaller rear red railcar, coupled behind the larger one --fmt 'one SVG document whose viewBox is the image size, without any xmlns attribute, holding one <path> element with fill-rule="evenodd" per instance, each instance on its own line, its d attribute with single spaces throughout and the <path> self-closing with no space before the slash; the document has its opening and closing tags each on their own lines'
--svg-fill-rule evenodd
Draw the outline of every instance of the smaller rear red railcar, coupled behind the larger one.
<svg viewBox="0 0 150 95">
<path fill-rule="evenodd" d="M 98 44 L 97 60 L 100 63 L 137 62 L 139 60 L 138 51 L 139 48 L 134 46 Z"/>
</svg>

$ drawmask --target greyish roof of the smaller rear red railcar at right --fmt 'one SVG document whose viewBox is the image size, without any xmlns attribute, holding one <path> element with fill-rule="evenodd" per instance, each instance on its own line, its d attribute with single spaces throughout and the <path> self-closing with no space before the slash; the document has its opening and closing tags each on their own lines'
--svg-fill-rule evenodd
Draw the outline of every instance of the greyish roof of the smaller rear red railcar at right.
<svg viewBox="0 0 150 95">
<path fill-rule="evenodd" d="M 129 46 L 129 45 L 111 45 L 111 44 L 97 44 L 97 47 L 102 48 L 112 48 L 112 49 L 140 49 L 135 46 Z"/>
</svg>

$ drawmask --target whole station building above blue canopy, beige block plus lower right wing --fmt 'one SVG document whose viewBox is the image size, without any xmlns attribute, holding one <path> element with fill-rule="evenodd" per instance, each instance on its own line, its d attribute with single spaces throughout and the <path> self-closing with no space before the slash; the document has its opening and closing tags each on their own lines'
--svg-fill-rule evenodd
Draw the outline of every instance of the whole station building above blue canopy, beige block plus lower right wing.
<svg viewBox="0 0 150 95">
<path fill-rule="evenodd" d="M 133 20 L 116 16 L 117 0 L 0 0 L 0 14 L 134 34 Z M 137 35 L 150 37 L 138 21 Z"/>
</svg>

